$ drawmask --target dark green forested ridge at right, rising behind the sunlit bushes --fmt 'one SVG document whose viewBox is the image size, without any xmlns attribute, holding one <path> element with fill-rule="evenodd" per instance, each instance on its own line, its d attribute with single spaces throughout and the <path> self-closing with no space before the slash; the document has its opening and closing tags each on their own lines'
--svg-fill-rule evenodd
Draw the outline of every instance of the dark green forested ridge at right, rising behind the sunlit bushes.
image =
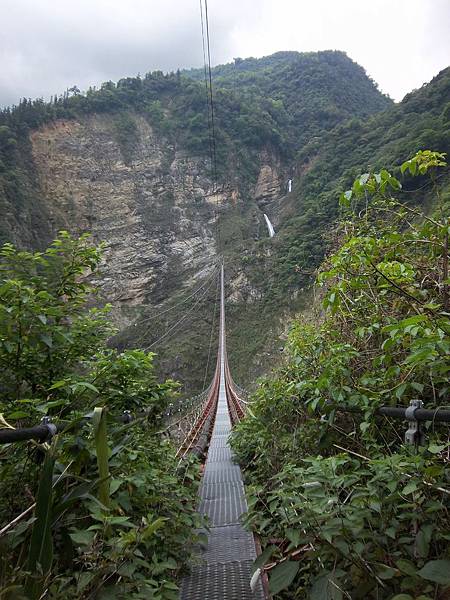
<svg viewBox="0 0 450 600">
<path fill-rule="evenodd" d="M 447 68 L 388 110 L 349 119 L 298 151 L 293 193 L 274 214 L 281 230 L 275 241 L 280 247 L 273 269 L 284 290 L 310 281 L 311 269 L 324 256 L 317 230 L 327 232 L 337 216 L 339 194 L 358 174 L 386 166 L 399 174 L 402 159 L 425 148 L 450 152 L 449 97 Z M 448 199 L 448 174 L 441 177 Z M 402 177 L 402 181 L 405 200 L 423 202 L 423 196 L 414 195 L 413 190 L 425 179 L 418 183 L 417 178 Z"/>
</svg>

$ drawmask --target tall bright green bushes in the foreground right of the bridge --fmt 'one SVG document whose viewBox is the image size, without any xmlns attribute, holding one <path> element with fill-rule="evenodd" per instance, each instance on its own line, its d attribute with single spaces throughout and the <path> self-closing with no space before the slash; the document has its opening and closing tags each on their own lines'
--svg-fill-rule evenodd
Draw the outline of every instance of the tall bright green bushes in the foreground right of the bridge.
<svg viewBox="0 0 450 600">
<path fill-rule="evenodd" d="M 294 322 L 285 364 L 254 394 L 233 447 L 249 483 L 276 598 L 444 598 L 450 586 L 448 430 L 423 446 L 381 405 L 445 405 L 449 394 L 448 205 L 444 155 L 400 171 L 437 194 L 432 213 L 398 200 L 386 170 L 341 196 L 323 263 L 324 313 Z M 407 180 L 409 183 L 409 179 Z"/>
</svg>

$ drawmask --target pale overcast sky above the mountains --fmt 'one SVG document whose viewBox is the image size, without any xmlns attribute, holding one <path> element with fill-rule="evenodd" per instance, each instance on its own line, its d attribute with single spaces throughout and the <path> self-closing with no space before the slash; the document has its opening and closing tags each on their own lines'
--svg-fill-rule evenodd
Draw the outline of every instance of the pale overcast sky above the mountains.
<svg viewBox="0 0 450 600">
<path fill-rule="evenodd" d="M 344 50 L 395 100 L 450 60 L 449 0 L 209 0 L 214 64 Z M 201 66 L 199 0 L 0 0 L 0 104 Z"/>
</svg>

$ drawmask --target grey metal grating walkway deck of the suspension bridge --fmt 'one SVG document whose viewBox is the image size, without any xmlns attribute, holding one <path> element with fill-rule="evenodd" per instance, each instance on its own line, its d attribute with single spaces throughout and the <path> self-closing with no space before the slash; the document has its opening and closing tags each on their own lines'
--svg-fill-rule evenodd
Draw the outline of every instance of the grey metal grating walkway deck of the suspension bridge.
<svg viewBox="0 0 450 600">
<path fill-rule="evenodd" d="M 220 390 L 203 481 L 199 511 L 209 517 L 210 531 L 199 564 L 183 579 L 180 600 L 264 600 L 261 582 L 250 589 L 256 557 L 251 533 L 240 524 L 247 511 L 240 468 L 233 463 L 228 437 L 228 414 L 223 357 Z"/>
</svg>

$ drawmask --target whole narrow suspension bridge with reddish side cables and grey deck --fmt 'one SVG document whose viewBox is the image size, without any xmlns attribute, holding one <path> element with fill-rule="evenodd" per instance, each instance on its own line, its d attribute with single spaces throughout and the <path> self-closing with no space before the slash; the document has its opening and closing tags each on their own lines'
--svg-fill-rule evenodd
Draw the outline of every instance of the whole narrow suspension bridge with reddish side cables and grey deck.
<svg viewBox="0 0 450 600">
<path fill-rule="evenodd" d="M 246 512 L 241 470 L 233 461 L 229 436 L 245 414 L 245 401 L 228 365 L 225 329 L 224 267 L 220 268 L 220 319 L 216 369 L 203 410 L 192 424 L 178 455 L 207 449 L 199 512 L 209 521 L 207 544 L 182 582 L 180 600 L 260 600 L 261 581 L 250 586 L 256 558 L 253 535 L 244 530 Z"/>
</svg>

